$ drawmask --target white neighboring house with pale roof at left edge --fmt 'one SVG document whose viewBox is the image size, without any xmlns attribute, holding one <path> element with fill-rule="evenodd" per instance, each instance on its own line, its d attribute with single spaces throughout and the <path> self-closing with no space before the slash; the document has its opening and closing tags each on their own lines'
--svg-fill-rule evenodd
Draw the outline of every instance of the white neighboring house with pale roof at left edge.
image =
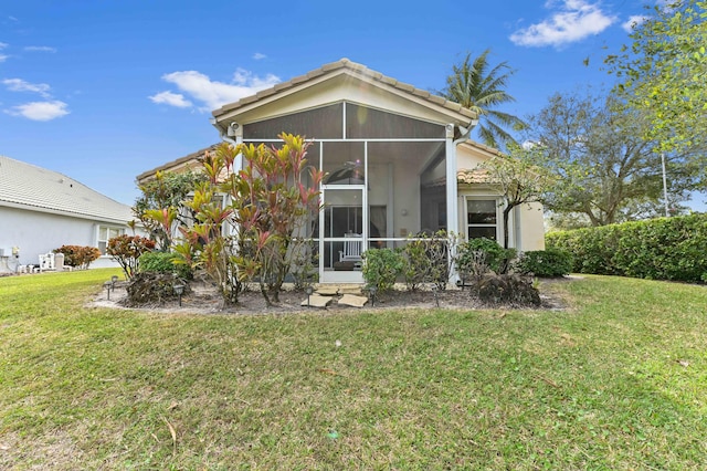
<svg viewBox="0 0 707 471">
<path fill-rule="evenodd" d="M 91 268 L 118 266 L 106 244 L 131 233 L 131 219 L 129 206 L 65 175 L 0 156 L 0 271 L 38 264 L 40 254 L 62 245 L 97 247 L 104 255 Z"/>
</svg>

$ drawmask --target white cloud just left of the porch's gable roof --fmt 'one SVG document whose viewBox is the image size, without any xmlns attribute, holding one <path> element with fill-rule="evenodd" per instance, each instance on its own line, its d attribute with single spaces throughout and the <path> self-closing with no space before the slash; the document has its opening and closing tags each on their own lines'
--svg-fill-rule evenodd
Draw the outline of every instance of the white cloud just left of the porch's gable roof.
<svg viewBox="0 0 707 471">
<path fill-rule="evenodd" d="M 181 92 L 203 104 L 202 111 L 211 111 L 228 103 L 238 102 L 279 83 L 279 77 L 276 75 L 267 74 L 260 77 L 243 69 L 235 71 L 231 83 L 212 81 L 208 75 L 197 71 L 172 72 L 162 75 L 162 80 L 177 85 Z"/>
</svg>

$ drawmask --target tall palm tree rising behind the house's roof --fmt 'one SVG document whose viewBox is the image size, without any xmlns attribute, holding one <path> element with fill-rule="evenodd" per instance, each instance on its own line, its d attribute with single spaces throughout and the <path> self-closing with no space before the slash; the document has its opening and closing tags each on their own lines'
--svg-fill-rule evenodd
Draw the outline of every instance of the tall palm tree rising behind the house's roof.
<svg viewBox="0 0 707 471">
<path fill-rule="evenodd" d="M 507 62 L 490 69 L 489 53 L 490 49 L 487 49 L 474 62 L 471 62 L 472 54 L 466 54 L 461 64 L 452 67 L 452 75 L 446 77 L 446 88 L 441 94 L 446 100 L 476 112 L 481 140 L 498 148 L 507 142 L 516 143 L 505 128 L 518 130 L 526 127 L 526 123 L 517 116 L 495 109 L 498 105 L 516 101 L 505 91 L 506 83 L 515 71 Z"/>
</svg>

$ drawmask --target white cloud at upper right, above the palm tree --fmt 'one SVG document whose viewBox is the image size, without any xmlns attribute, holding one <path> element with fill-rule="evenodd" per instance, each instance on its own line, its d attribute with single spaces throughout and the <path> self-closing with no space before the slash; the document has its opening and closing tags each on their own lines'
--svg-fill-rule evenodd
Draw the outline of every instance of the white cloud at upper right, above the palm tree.
<svg viewBox="0 0 707 471">
<path fill-rule="evenodd" d="M 548 1 L 552 8 L 557 1 Z M 510 35 L 510 41 L 527 46 L 561 46 L 599 34 L 616 21 L 616 17 L 604 13 L 599 3 L 587 0 L 562 0 L 559 11 L 547 20 L 520 29 Z"/>
</svg>

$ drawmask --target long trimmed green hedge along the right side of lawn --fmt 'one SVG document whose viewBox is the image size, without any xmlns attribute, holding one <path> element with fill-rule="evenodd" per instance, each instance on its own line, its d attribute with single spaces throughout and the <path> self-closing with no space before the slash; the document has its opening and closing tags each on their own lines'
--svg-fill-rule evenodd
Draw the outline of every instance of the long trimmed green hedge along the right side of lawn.
<svg viewBox="0 0 707 471">
<path fill-rule="evenodd" d="M 707 282 L 707 214 L 551 232 L 546 245 L 570 252 L 577 273 Z"/>
</svg>

